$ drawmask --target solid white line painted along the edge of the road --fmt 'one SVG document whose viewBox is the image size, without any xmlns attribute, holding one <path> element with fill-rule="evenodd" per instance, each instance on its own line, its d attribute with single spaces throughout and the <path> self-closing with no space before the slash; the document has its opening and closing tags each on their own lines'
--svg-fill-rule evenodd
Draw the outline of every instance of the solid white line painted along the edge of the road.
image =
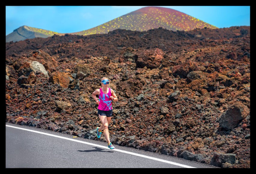
<svg viewBox="0 0 256 174">
<path fill-rule="evenodd" d="M 26 130 L 26 131 L 30 131 L 30 132 L 35 132 L 35 133 L 39 133 L 39 134 L 49 135 L 49 136 L 52 136 L 52 137 L 62 138 L 62 139 L 70 140 L 70 141 L 76 141 L 76 142 L 83 143 L 83 144 L 89 144 L 89 145 L 97 146 L 97 147 L 100 147 L 100 148 L 109 149 L 106 146 L 101 146 L 101 145 L 98 145 L 98 144 L 88 143 L 88 142 L 85 142 L 85 141 L 80 141 L 80 140 L 76 140 L 76 139 L 66 138 L 66 137 L 62 137 L 62 136 L 58 136 L 58 135 L 48 134 L 48 133 L 34 131 L 34 130 L 30 130 L 30 129 L 24 129 L 24 128 L 15 127 L 15 126 L 9 126 L 9 125 L 5 125 L 5 126 L 12 127 L 12 128 L 15 128 L 15 129 L 22 129 L 22 130 Z M 169 164 L 173 164 L 173 165 L 181 166 L 181 167 L 185 167 L 185 168 L 196 168 L 196 167 L 192 167 L 192 166 L 183 165 L 183 164 L 180 164 L 180 163 L 175 163 L 175 162 L 171 162 L 171 161 L 167 161 L 167 160 L 162 160 L 162 159 L 154 158 L 154 157 L 149 157 L 149 156 L 146 156 L 146 155 L 136 154 L 136 153 L 133 153 L 133 152 L 123 151 L 123 150 L 119 150 L 119 149 L 112 149 L 112 150 L 113 151 L 122 152 L 122 153 L 126 153 L 126 154 L 131 154 L 131 155 L 139 156 L 139 157 L 143 157 L 143 158 L 148 158 L 148 159 L 151 159 L 151 160 L 161 161 L 161 162 L 164 162 L 164 163 L 169 163 Z"/>
</svg>

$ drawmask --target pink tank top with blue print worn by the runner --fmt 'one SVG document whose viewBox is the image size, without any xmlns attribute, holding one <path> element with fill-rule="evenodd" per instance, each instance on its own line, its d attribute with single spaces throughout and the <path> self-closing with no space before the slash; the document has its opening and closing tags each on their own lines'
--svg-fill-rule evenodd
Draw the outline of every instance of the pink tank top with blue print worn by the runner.
<svg viewBox="0 0 256 174">
<path fill-rule="evenodd" d="M 108 88 L 108 93 L 103 93 L 102 89 L 100 88 L 100 94 L 99 94 L 99 110 L 112 110 L 112 100 L 110 98 L 112 96 L 111 89 Z"/>
</svg>

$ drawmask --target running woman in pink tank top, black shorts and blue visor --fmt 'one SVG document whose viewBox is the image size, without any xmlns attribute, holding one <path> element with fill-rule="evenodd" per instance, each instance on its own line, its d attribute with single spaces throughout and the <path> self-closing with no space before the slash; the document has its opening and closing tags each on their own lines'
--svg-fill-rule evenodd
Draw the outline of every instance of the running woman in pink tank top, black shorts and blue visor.
<svg viewBox="0 0 256 174">
<path fill-rule="evenodd" d="M 92 93 L 92 97 L 96 101 L 98 106 L 98 116 L 101 121 L 101 126 L 97 127 L 97 137 L 100 138 L 101 131 L 103 130 L 103 135 L 108 142 L 108 148 L 114 149 L 115 147 L 109 140 L 109 131 L 108 125 L 111 121 L 112 117 L 112 101 L 118 101 L 117 96 L 113 89 L 108 88 L 109 81 L 107 77 L 103 77 L 101 79 L 101 88 L 96 89 Z M 99 95 L 99 100 L 97 99 L 96 95 Z"/>
</svg>

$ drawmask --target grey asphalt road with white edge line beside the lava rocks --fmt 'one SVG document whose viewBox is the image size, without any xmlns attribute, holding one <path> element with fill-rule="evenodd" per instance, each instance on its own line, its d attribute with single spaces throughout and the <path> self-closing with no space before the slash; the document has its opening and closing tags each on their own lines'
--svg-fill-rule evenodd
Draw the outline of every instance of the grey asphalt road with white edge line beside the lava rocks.
<svg viewBox="0 0 256 174">
<path fill-rule="evenodd" d="M 5 124 L 6 168 L 216 168 L 45 129 Z M 32 132 L 33 131 L 33 132 Z"/>
</svg>

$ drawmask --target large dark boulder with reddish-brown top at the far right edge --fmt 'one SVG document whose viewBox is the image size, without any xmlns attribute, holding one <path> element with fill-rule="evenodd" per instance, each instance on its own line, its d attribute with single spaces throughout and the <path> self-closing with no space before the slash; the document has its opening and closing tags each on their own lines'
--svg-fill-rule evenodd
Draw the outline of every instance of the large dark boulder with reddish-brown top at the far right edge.
<svg viewBox="0 0 256 174">
<path fill-rule="evenodd" d="M 250 110 L 247 106 L 241 102 L 235 102 L 221 115 L 218 122 L 220 127 L 233 129 L 249 114 Z"/>
</svg>

